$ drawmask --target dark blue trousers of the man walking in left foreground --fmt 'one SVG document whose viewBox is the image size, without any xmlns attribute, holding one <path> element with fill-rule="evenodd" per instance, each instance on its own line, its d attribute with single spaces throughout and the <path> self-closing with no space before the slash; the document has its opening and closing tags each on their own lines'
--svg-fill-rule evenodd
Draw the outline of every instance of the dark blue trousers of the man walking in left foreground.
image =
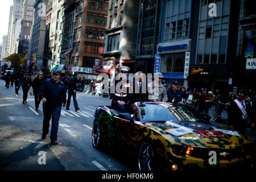
<svg viewBox="0 0 256 182">
<path fill-rule="evenodd" d="M 50 139 L 52 141 L 57 141 L 61 107 L 53 107 L 53 106 L 47 106 L 43 104 L 43 113 L 44 113 L 43 134 L 47 135 L 49 133 L 49 121 L 52 118 L 52 128 L 51 128 Z"/>
</svg>

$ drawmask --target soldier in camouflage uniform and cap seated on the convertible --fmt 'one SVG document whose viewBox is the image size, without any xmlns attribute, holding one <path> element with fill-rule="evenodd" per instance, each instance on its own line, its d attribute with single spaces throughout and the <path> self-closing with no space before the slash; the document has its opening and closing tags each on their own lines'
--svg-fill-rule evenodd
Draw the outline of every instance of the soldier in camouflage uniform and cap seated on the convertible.
<svg viewBox="0 0 256 182">
<path fill-rule="evenodd" d="M 148 84 L 148 100 L 152 102 L 167 102 L 166 88 L 161 83 L 163 75 L 160 72 L 154 73 L 155 80 Z"/>
</svg>

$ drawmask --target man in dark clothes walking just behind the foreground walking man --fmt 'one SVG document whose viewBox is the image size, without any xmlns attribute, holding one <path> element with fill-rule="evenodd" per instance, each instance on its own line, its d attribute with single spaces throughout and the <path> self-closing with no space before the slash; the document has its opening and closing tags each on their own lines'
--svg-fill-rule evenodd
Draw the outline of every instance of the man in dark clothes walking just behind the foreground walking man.
<svg viewBox="0 0 256 182">
<path fill-rule="evenodd" d="M 70 102 L 71 102 L 71 96 L 73 97 L 75 110 L 78 111 L 80 108 L 76 101 L 76 90 L 77 90 L 77 73 L 74 73 L 74 76 L 70 78 L 68 81 L 68 101 L 67 101 L 67 107 L 66 109 L 69 110 Z"/>
</svg>

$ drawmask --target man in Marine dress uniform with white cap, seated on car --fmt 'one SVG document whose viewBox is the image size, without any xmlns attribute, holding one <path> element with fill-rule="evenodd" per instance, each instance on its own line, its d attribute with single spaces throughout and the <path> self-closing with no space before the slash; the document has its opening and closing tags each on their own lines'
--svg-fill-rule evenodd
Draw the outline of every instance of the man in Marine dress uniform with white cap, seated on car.
<svg viewBox="0 0 256 182">
<path fill-rule="evenodd" d="M 114 109 L 121 111 L 122 113 L 133 113 L 133 82 L 127 79 L 129 67 L 119 67 L 120 71 L 120 81 L 115 81 L 113 84 L 114 88 L 111 89 L 110 98 L 112 99 L 112 106 Z M 130 89 L 130 92 L 129 92 Z M 112 93 L 114 92 L 114 93 Z"/>
</svg>

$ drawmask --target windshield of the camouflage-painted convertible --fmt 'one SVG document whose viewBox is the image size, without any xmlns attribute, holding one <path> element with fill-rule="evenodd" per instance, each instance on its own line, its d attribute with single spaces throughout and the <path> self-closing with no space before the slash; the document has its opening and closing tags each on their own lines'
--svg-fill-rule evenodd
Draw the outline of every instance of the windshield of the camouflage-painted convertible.
<svg viewBox="0 0 256 182">
<path fill-rule="evenodd" d="M 147 103 L 144 107 L 138 106 L 138 109 L 142 122 L 191 121 L 208 123 L 199 111 L 188 105 Z"/>
</svg>

